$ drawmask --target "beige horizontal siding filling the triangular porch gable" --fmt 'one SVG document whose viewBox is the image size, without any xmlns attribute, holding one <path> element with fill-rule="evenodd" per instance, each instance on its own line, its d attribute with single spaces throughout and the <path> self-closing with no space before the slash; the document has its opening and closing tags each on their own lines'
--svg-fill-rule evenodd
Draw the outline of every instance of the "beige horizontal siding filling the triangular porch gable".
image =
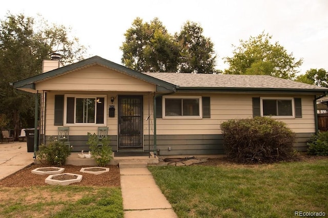
<svg viewBox="0 0 328 218">
<path fill-rule="evenodd" d="M 36 84 L 37 90 L 154 92 L 156 86 L 104 67 L 93 66 Z"/>
</svg>

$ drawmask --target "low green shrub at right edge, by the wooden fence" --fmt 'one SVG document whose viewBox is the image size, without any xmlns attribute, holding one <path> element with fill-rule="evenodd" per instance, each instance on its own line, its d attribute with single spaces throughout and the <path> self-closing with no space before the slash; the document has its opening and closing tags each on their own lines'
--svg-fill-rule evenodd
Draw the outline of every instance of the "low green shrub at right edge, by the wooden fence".
<svg viewBox="0 0 328 218">
<path fill-rule="evenodd" d="M 328 132 L 319 132 L 308 142 L 308 154 L 328 156 Z"/>
</svg>

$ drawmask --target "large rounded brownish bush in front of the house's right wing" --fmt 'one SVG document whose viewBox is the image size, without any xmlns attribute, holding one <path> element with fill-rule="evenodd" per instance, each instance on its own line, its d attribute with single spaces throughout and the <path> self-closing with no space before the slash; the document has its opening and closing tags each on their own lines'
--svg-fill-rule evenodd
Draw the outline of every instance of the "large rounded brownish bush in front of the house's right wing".
<svg viewBox="0 0 328 218">
<path fill-rule="evenodd" d="M 221 124 L 228 158 L 238 163 L 269 163 L 293 157 L 295 134 L 268 117 L 228 120 Z"/>
</svg>

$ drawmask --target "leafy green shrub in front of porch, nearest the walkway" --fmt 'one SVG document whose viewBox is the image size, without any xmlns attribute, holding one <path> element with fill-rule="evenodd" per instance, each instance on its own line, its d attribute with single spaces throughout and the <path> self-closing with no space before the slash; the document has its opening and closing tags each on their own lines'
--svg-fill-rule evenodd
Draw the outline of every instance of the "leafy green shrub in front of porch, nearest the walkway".
<svg viewBox="0 0 328 218">
<path fill-rule="evenodd" d="M 112 159 L 112 147 L 109 145 L 109 138 L 104 137 L 100 140 L 94 133 L 88 133 L 88 142 L 90 152 L 98 166 L 106 166 Z"/>
</svg>

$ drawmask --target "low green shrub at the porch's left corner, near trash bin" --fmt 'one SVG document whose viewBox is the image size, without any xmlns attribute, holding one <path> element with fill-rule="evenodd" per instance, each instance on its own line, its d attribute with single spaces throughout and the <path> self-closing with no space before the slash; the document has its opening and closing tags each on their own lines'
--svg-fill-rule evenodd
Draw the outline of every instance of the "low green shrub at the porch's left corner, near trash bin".
<svg viewBox="0 0 328 218">
<path fill-rule="evenodd" d="M 36 151 L 36 157 L 42 162 L 46 160 L 51 165 L 64 165 L 68 156 L 71 155 L 71 147 L 57 140 L 51 141 L 49 144 L 42 144 Z"/>
</svg>

